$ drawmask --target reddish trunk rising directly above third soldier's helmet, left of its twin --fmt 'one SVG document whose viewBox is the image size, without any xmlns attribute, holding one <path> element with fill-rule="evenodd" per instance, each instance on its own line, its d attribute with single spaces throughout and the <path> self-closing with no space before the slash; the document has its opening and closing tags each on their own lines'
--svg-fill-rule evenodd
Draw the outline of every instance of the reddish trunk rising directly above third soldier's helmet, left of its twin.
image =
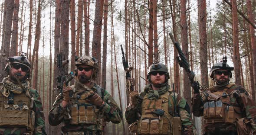
<svg viewBox="0 0 256 135">
<path fill-rule="evenodd" d="M 153 64 L 153 3 L 149 0 L 148 66 Z"/>
</svg>

